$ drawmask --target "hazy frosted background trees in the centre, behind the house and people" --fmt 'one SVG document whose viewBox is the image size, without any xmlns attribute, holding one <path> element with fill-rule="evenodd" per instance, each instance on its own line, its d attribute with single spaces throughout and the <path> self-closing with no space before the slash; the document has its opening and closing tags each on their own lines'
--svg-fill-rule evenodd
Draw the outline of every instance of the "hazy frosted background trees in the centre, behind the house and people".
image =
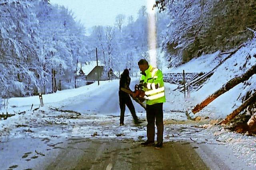
<svg viewBox="0 0 256 170">
<path fill-rule="evenodd" d="M 166 14 L 158 14 L 157 35 L 159 41 L 164 36 L 162 30 L 166 28 L 168 21 Z M 108 35 L 114 33 L 114 38 L 109 39 L 112 36 L 107 37 L 107 32 Z M 122 25 L 122 31 L 119 31 L 118 27 L 110 29 L 110 27 L 96 26 L 89 39 L 93 46 L 91 48 L 98 47 L 98 58 L 104 61 L 107 70 L 112 68 L 114 71 L 122 72 L 128 68 L 131 75 L 136 75 L 135 73 L 139 71 L 138 61 L 142 58 L 148 60 L 149 57 L 146 7 L 140 8 L 136 20 L 133 16 L 129 16 L 127 25 Z"/>
</svg>

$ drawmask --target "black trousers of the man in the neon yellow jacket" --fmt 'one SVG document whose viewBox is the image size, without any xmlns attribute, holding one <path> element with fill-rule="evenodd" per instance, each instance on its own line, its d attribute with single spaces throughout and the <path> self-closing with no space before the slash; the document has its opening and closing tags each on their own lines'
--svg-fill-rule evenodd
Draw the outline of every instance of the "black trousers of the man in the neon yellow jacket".
<svg viewBox="0 0 256 170">
<path fill-rule="evenodd" d="M 163 103 L 146 105 L 147 115 L 147 137 L 148 141 L 155 141 L 155 121 L 157 128 L 157 142 L 163 142 L 164 123 L 163 123 Z"/>
</svg>

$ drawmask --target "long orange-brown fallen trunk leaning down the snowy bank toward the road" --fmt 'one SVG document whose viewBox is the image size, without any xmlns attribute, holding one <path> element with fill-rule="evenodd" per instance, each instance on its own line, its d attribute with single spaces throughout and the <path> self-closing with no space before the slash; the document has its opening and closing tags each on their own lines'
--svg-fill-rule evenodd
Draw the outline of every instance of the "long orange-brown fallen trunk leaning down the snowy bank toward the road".
<svg viewBox="0 0 256 170">
<path fill-rule="evenodd" d="M 202 110 L 210 102 L 212 102 L 214 99 L 218 98 L 218 96 L 220 96 L 220 95 L 224 94 L 225 92 L 227 92 L 228 90 L 232 89 L 237 84 L 248 80 L 253 74 L 255 74 L 255 72 L 256 72 L 256 64 L 254 66 L 252 66 L 245 74 L 228 81 L 226 84 L 224 84 L 224 86 L 222 86 L 222 88 L 220 88 L 214 94 L 210 95 L 208 98 L 206 98 L 200 104 L 196 105 L 196 107 L 194 107 L 194 109 L 192 109 L 192 113 L 195 114 L 198 111 Z"/>
</svg>

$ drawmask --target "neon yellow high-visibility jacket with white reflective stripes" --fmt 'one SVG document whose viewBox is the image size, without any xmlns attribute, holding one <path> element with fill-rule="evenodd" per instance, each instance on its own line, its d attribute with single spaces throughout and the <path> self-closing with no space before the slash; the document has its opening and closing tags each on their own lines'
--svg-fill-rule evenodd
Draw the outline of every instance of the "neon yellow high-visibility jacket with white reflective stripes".
<svg viewBox="0 0 256 170">
<path fill-rule="evenodd" d="M 156 103 L 164 103 L 166 101 L 164 95 L 164 80 L 161 70 L 149 65 L 145 70 L 145 75 L 140 77 L 140 84 L 145 84 L 143 90 L 145 91 L 146 104 L 152 105 Z"/>
</svg>

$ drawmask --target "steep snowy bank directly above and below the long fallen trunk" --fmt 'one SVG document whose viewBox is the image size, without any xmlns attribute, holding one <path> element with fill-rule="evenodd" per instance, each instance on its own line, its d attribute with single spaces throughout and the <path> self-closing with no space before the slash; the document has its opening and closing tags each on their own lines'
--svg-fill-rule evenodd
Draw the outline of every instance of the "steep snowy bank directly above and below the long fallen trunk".
<svg viewBox="0 0 256 170">
<path fill-rule="evenodd" d="M 246 46 L 242 47 L 232 55 L 232 57 L 227 59 L 222 65 L 216 68 L 216 71 L 207 80 L 206 84 L 200 88 L 200 90 L 190 95 L 195 104 L 213 94 L 232 78 L 241 76 L 244 72 L 254 66 L 256 64 L 256 57 L 250 57 L 250 53 L 252 53 L 251 51 L 253 51 L 255 46 L 256 39 L 253 39 L 248 42 Z M 253 76 L 252 79 L 254 80 L 254 78 L 255 77 Z M 211 110 L 214 113 L 213 118 L 224 118 L 226 115 L 231 113 L 232 110 L 241 105 L 242 101 L 238 99 L 240 94 L 244 93 L 244 89 L 242 88 L 243 84 L 244 83 L 240 83 L 233 89 L 221 95 L 218 99 L 209 104 L 208 107 L 205 107 L 200 113 L 207 113 L 207 110 Z M 252 83 L 248 88 L 253 90 L 256 86 Z"/>
</svg>

